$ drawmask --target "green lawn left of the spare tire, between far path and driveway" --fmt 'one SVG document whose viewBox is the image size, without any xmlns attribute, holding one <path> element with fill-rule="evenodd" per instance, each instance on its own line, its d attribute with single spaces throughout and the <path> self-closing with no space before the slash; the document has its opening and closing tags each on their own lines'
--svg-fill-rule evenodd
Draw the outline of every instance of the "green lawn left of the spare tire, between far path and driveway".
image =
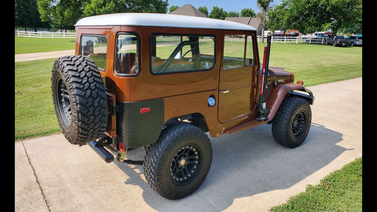
<svg viewBox="0 0 377 212">
<path fill-rule="evenodd" d="M 60 132 L 51 97 L 55 59 L 15 63 L 14 139 Z"/>
</svg>

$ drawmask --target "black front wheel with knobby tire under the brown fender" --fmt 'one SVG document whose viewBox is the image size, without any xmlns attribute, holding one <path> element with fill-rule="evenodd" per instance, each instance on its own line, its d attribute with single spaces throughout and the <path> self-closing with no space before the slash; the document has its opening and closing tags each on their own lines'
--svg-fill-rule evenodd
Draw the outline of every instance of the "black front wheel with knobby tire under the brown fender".
<svg viewBox="0 0 377 212">
<path fill-rule="evenodd" d="M 274 140 L 289 148 L 300 146 L 308 135 L 311 109 L 306 100 L 286 97 L 272 120 Z"/>
</svg>

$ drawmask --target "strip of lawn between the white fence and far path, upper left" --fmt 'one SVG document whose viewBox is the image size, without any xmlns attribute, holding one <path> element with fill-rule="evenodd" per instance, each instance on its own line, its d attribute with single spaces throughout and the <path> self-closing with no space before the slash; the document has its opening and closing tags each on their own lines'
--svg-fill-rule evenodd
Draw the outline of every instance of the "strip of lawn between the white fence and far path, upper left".
<svg viewBox="0 0 377 212">
<path fill-rule="evenodd" d="M 75 49 L 76 40 L 72 38 L 14 38 L 14 54 L 50 52 Z"/>
</svg>

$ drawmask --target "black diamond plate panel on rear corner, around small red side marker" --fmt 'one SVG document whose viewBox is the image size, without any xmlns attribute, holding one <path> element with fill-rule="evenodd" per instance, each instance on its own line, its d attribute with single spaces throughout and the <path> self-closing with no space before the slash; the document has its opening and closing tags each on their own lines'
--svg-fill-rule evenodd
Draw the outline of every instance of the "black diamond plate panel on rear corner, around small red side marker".
<svg viewBox="0 0 377 212">
<path fill-rule="evenodd" d="M 155 143 L 164 127 L 164 100 L 117 102 L 116 132 L 124 147 L 136 148 Z M 140 113 L 140 108 L 150 108 Z"/>
</svg>

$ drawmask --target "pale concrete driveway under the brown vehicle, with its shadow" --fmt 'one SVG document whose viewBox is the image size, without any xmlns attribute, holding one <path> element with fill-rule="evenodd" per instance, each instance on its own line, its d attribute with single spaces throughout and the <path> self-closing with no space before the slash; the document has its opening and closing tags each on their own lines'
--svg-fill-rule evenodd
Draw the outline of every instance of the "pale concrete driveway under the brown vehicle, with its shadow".
<svg viewBox="0 0 377 212">
<path fill-rule="evenodd" d="M 264 124 L 211 138 L 213 163 L 189 197 L 166 200 L 141 166 L 106 164 L 62 134 L 15 143 L 15 211 L 267 211 L 362 156 L 362 78 L 310 87 L 316 100 L 305 142 L 277 144 Z M 129 151 L 143 159 L 143 149 Z"/>
</svg>

